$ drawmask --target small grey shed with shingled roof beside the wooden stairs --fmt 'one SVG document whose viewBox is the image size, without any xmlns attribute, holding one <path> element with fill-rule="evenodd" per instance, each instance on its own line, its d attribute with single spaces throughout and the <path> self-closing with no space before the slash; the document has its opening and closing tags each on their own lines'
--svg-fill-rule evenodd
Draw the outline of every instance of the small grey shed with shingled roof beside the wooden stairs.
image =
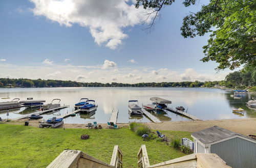
<svg viewBox="0 0 256 168">
<path fill-rule="evenodd" d="M 194 153 L 216 153 L 231 167 L 256 167 L 256 140 L 214 126 L 191 134 Z"/>
</svg>

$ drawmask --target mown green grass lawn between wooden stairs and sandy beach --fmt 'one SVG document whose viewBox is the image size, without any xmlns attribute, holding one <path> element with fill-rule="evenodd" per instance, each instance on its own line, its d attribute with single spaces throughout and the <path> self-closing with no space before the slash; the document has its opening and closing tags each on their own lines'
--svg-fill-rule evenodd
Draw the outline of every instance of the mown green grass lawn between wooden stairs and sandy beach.
<svg viewBox="0 0 256 168">
<path fill-rule="evenodd" d="M 163 133 L 190 137 L 190 132 Z M 81 134 L 89 134 L 90 139 L 80 139 Z M 146 145 L 151 164 L 185 155 L 165 143 L 143 141 L 128 128 L 63 130 L 0 124 L 0 167 L 46 167 L 64 149 L 81 150 L 110 163 L 114 145 L 123 152 L 123 167 L 136 167 L 141 144 Z"/>
</svg>

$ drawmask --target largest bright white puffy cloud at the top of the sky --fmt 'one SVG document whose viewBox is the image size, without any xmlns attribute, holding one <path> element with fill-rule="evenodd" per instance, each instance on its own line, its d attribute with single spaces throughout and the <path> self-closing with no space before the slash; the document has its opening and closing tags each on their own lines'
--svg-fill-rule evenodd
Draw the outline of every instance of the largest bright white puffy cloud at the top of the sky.
<svg viewBox="0 0 256 168">
<path fill-rule="evenodd" d="M 146 10 L 136 9 L 129 0 L 30 0 L 35 4 L 34 15 L 45 16 L 60 25 L 89 27 L 98 45 L 115 49 L 127 35 L 122 29 L 140 24 Z M 152 18 L 149 18 L 150 21 Z"/>
</svg>

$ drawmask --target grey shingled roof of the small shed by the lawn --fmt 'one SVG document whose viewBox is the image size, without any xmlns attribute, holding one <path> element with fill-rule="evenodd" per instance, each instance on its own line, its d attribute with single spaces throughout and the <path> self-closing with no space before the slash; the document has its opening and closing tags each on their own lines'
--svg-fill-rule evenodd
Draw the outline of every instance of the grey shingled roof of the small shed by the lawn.
<svg viewBox="0 0 256 168">
<path fill-rule="evenodd" d="M 203 144 L 210 144 L 213 142 L 217 142 L 217 141 L 220 141 L 221 139 L 225 139 L 234 135 L 240 135 L 248 139 L 252 139 L 247 136 L 229 131 L 227 129 L 224 129 L 218 126 L 213 126 L 213 127 L 204 129 L 202 131 L 194 132 L 191 135 L 197 138 Z"/>
</svg>

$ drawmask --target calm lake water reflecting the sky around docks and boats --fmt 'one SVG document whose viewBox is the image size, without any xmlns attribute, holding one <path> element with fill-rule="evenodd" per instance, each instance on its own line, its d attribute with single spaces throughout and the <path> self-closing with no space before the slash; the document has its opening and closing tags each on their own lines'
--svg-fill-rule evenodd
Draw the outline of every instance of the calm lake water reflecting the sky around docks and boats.
<svg viewBox="0 0 256 168">
<path fill-rule="evenodd" d="M 232 91 L 206 88 L 4 88 L 0 89 L 0 98 L 10 97 L 10 99 L 0 99 L 0 102 L 11 101 L 14 98 L 27 100 L 33 97 L 34 100 L 46 100 L 50 103 L 52 99 L 61 99 L 60 104 L 70 105 L 70 107 L 42 115 L 44 119 L 58 117 L 74 109 L 74 104 L 81 98 L 95 100 L 98 108 L 95 114 L 77 114 L 75 117 L 68 117 L 65 123 L 84 124 L 93 121 L 106 123 L 111 117 L 113 108 L 119 110 L 117 123 L 128 122 L 151 122 L 145 116 L 142 118 L 131 118 L 128 114 L 128 100 L 138 100 L 139 105 L 151 103 L 150 97 L 161 97 L 172 101 L 169 107 L 184 106 L 188 108 L 188 113 L 202 120 L 256 118 L 256 109 L 249 108 L 245 102 L 251 100 L 255 95 L 239 95 L 241 100 L 230 97 Z M 45 104 L 46 104 L 45 103 Z M 242 107 L 245 114 L 232 113 L 233 108 Z M 20 117 L 32 113 L 35 109 L 9 110 L 9 119 Z M 0 111 L 2 119 L 7 118 L 7 111 Z M 176 115 L 170 111 L 159 111 L 154 114 L 161 121 L 189 121 L 189 119 Z"/>
</svg>

